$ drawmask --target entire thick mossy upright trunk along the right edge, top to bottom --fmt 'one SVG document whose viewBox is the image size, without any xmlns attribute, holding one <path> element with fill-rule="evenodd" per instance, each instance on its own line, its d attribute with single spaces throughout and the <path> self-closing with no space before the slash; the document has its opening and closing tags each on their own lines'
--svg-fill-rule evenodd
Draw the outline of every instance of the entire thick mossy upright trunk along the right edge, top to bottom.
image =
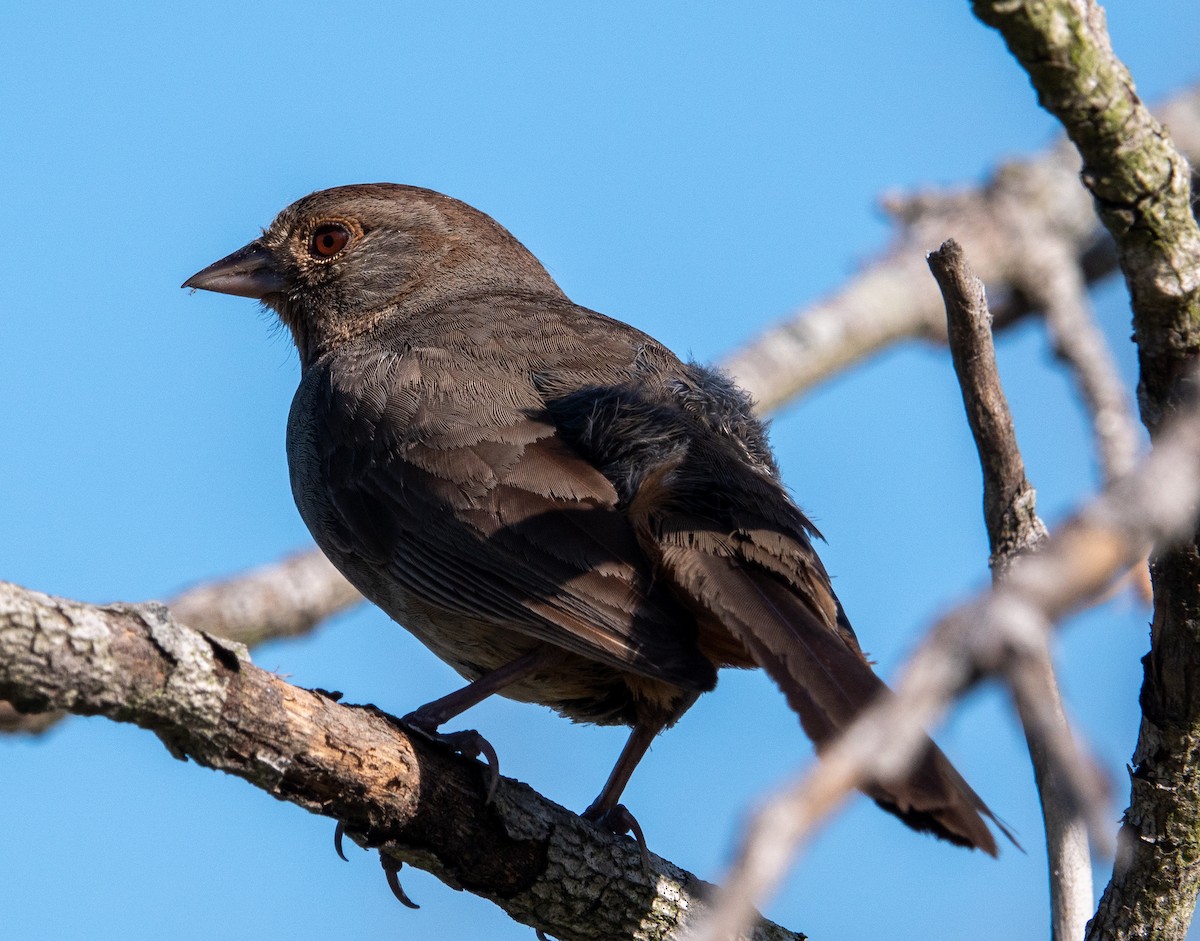
<svg viewBox="0 0 1200 941">
<path fill-rule="evenodd" d="M 1200 359 L 1200 229 L 1192 170 L 1141 103 L 1090 0 L 974 0 L 1000 30 L 1084 162 L 1129 288 L 1139 403 L 1152 438 L 1194 398 Z M 1188 134 L 1172 118 L 1176 131 Z M 1152 565 L 1154 617 L 1142 724 L 1112 880 L 1090 939 L 1182 939 L 1200 894 L 1200 546 L 1195 533 Z"/>
</svg>

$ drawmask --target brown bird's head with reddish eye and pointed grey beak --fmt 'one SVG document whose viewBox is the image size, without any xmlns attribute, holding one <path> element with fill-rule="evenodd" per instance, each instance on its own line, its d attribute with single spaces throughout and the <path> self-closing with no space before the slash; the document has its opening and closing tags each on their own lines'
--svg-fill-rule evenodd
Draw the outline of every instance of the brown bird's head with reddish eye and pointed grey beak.
<svg viewBox="0 0 1200 941">
<path fill-rule="evenodd" d="M 184 287 L 262 301 L 290 329 L 304 361 L 383 319 L 419 316 L 456 298 L 562 296 L 538 259 L 493 218 L 396 184 L 311 193 Z"/>
</svg>

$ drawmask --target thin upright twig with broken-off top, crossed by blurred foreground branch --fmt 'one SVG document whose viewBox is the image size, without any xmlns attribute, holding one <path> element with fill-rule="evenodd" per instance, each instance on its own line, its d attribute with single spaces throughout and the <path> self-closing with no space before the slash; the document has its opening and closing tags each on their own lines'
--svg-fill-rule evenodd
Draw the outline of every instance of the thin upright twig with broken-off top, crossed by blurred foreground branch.
<svg viewBox="0 0 1200 941">
<path fill-rule="evenodd" d="M 1025 461 L 1000 382 L 983 282 L 953 240 L 930 253 L 929 266 L 946 299 L 950 355 L 983 468 L 984 520 L 996 583 L 1021 553 L 1037 551 L 1049 534 L 1037 514 L 1037 495 L 1025 475 Z M 1043 649 L 1045 655 L 1028 660 L 1028 673 L 1025 682 L 1014 684 L 1014 697 L 1045 822 L 1050 936 L 1054 941 L 1075 941 L 1082 936 L 1092 913 L 1091 855 L 1079 795 L 1072 787 L 1070 769 L 1079 767 L 1079 756 L 1070 748 L 1070 727 L 1049 648 Z M 1082 767 L 1090 768 L 1092 763 Z M 1106 805 L 1103 799 L 1106 789 L 1092 785 L 1090 791 L 1084 797 L 1092 798 L 1092 813 L 1098 816 Z"/>
</svg>

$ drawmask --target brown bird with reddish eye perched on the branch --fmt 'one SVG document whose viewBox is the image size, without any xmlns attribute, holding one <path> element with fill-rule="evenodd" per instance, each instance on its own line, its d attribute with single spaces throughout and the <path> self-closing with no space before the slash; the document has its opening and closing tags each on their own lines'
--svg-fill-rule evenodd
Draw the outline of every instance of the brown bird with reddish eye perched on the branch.
<svg viewBox="0 0 1200 941">
<path fill-rule="evenodd" d="M 256 298 L 290 330 L 300 515 L 469 681 L 419 729 L 493 693 L 628 725 L 584 816 L 640 837 L 622 791 L 719 669 L 766 670 L 818 749 L 886 695 L 746 394 L 572 304 L 491 217 L 413 186 L 324 190 L 184 287 Z M 932 742 L 868 793 L 996 855 L 995 817 Z"/>
</svg>

